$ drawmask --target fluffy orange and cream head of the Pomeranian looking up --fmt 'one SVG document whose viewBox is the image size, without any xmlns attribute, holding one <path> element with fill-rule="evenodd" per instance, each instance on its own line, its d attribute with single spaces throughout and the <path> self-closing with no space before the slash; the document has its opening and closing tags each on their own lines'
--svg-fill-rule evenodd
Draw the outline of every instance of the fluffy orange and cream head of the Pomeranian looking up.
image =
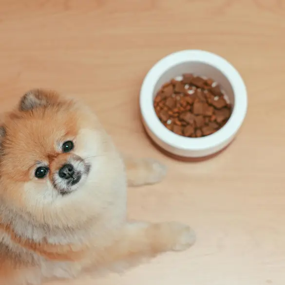
<svg viewBox="0 0 285 285">
<path fill-rule="evenodd" d="M 89 200 L 111 148 L 88 108 L 32 90 L 0 125 L 0 198 L 39 223 L 60 225 L 68 215 L 76 223 L 95 207 Z"/>
</svg>

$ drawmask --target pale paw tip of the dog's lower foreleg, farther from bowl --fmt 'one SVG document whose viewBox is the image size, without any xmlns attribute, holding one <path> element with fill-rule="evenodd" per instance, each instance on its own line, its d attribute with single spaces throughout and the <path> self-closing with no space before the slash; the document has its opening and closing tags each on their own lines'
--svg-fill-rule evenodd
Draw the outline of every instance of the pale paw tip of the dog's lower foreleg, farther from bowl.
<svg viewBox="0 0 285 285">
<path fill-rule="evenodd" d="M 177 222 L 171 222 L 171 232 L 173 234 L 172 250 L 182 251 L 190 248 L 195 241 L 195 232 L 188 226 Z"/>
</svg>

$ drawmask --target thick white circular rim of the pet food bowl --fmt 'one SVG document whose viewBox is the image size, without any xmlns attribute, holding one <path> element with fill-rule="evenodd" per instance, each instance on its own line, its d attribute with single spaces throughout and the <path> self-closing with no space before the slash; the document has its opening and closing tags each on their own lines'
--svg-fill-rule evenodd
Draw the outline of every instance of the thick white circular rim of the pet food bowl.
<svg viewBox="0 0 285 285">
<path fill-rule="evenodd" d="M 188 138 L 173 133 L 161 124 L 153 107 L 152 94 L 156 82 L 167 70 L 184 62 L 211 65 L 223 73 L 233 89 L 235 104 L 228 122 L 206 137 Z M 154 64 L 142 83 L 139 104 L 144 124 L 158 139 L 174 148 L 199 151 L 214 148 L 235 135 L 247 113 L 247 89 L 239 72 L 223 57 L 207 51 L 184 50 L 171 53 Z"/>
</svg>

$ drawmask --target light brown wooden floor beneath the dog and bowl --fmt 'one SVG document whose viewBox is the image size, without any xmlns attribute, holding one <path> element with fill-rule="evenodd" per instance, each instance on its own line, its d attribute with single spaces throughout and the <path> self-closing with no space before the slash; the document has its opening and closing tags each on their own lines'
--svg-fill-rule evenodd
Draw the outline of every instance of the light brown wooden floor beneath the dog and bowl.
<svg viewBox="0 0 285 285">
<path fill-rule="evenodd" d="M 183 49 L 224 56 L 248 88 L 236 141 L 202 163 L 161 154 L 138 110 L 147 71 Z M 169 167 L 130 190 L 130 216 L 197 233 L 187 252 L 123 275 L 49 285 L 285 284 L 285 0 L 0 0 L 0 64 L 0 111 L 34 87 L 81 97 L 123 151 Z"/>
</svg>

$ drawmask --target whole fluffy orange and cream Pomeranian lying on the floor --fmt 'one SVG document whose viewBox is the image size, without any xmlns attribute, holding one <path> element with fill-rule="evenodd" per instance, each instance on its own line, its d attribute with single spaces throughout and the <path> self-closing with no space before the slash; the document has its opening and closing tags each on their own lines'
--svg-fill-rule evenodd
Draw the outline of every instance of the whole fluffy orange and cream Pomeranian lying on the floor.
<svg viewBox="0 0 285 285">
<path fill-rule="evenodd" d="M 187 225 L 126 218 L 127 186 L 165 172 L 121 156 L 80 102 L 27 92 L 0 125 L 0 284 L 40 285 L 189 248 Z"/>
</svg>

